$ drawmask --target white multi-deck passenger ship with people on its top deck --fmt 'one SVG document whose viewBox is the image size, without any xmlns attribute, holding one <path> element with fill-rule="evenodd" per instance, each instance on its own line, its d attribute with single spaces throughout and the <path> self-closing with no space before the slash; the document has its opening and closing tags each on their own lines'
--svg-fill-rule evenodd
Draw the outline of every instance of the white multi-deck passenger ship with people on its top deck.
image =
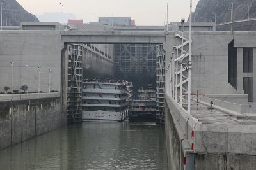
<svg viewBox="0 0 256 170">
<path fill-rule="evenodd" d="M 83 121 L 121 122 L 129 115 L 126 81 L 85 80 L 83 82 Z"/>
</svg>

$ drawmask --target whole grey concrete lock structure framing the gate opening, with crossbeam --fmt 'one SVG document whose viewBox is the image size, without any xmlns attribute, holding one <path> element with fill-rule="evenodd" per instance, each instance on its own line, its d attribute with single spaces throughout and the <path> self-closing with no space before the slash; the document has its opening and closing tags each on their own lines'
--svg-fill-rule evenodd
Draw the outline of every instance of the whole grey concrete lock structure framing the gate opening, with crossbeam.
<svg viewBox="0 0 256 170">
<path fill-rule="evenodd" d="M 159 119 L 161 118 L 161 122 L 164 120 L 165 124 L 168 169 L 211 169 L 212 167 L 255 169 L 256 85 L 253 83 L 256 76 L 253 74 L 256 71 L 255 32 L 214 31 L 214 25 L 193 24 L 192 41 L 189 41 L 189 32 L 186 30 L 188 26 L 184 25 L 182 29 L 184 31 L 181 31 L 180 26 L 180 24 L 169 25 L 168 31 L 1 31 L 0 89 L 6 86 L 6 82 L 10 82 L 11 73 L 6 70 L 11 70 L 10 62 L 15 62 L 13 89 L 18 89 L 24 84 L 23 73 L 29 69 L 29 89 L 33 89 L 31 92 L 38 90 L 36 70 L 40 67 L 42 78 L 45 79 L 42 91 L 47 92 L 51 87 L 51 90 L 58 92 L 54 94 L 56 96 L 42 97 L 38 94 L 37 99 L 41 98 L 41 103 L 44 104 L 42 98 L 52 97 L 51 105 L 47 108 L 56 109 L 60 106 L 58 113 L 62 118 L 54 119 L 61 122 L 60 125 L 79 122 L 79 104 L 81 104 L 79 82 L 82 77 L 79 74 L 82 66 L 79 64 L 83 62 L 79 61 L 79 51 L 83 51 L 81 47 L 88 44 L 154 44 L 157 45 L 157 56 L 161 56 L 161 60 L 157 61 L 159 66 L 161 64 L 158 68 L 160 76 L 157 76 L 159 77 L 157 81 L 161 83 L 163 90 L 161 94 L 164 94 L 158 97 L 161 99 L 160 102 L 164 106 L 161 105 L 161 108 L 164 108 L 164 111 L 161 112 Z M 187 72 L 189 43 L 191 44 L 190 113 Z M 78 52 L 71 50 L 68 53 L 70 44 L 75 45 L 72 49 Z M 104 55 L 104 52 L 101 54 Z M 68 55 L 76 56 L 76 60 L 68 61 Z M 73 66 L 71 69 L 68 67 L 68 62 Z M 24 67 L 27 64 L 31 67 Z M 48 80 L 51 82 L 49 83 Z M 76 90 L 70 92 L 70 89 Z M 77 108 L 74 108 L 74 111 L 78 111 L 75 114 L 68 112 L 68 107 L 71 106 L 68 105 L 68 101 L 74 97 L 69 96 L 71 93 L 77 94 Z M 14 94 L 5 96 L 3 101 L 13 101 L 16 99 L 14 96 Z M 25 96 L 27 100 L 30 99 L 29 94 Z M 18 97 L 20 100 L 24 96 L 18 95 Z M 54 97 L 59 99 L 56 103 Z M 2 104 L 3 101 L 0 103 Z M 10 144 L 6 145 L 10 143 L 10 137 L 6 138 L 6 134 L 10 133 L 9 127 L 13 127 L 10 125 L 13 123 L 10 119 L 12 110 L 17 111 L 16 108 L 20 108 L 20 103 L 17 103 L 16 108 L 13 108 L 12 104 L 4 104 L 1 106 L 4 106 L 6 116 L 4 121 L 0 122 L 1 127 L 6 128 L 5 134 L 1 134 L 2 149 L 10 146 Z M 28 106 L 29 104 L 25 104 L 24 112 L 18 110 L 22 113 L 22 117 L 27 117 L 24 116 L 27 113 L 35 114 L 36 127 L 40 127 L 40 124 L 44 127 L 44 119 L 38 120 L 39 112 L 37 112 L 40 108 L 44 108 L 43 105 L 36 105 L 34 111 Z M 44 115 L 44 111 L 41 113 Z M 53 112 L 49 112 L 45 117 L 49 118 L 50 113 Z M 51 118 L 54 116 L 52 115 Z M 45 124 L 47 127 L 51 127 L 51 118 L 49 121 L 45 120 L 48 122 Z M 26 121 L 22 125 L 16 124 L 15 128 L 18 130 L 12 129 L 11 132 L 23 131 L 20 127 L 26 124 L 28 124 Z M 19 140 L 13 141 L 12 145 L 20 141 L 23 139 L 20 140 L 19 137 Z"/>
</svg>

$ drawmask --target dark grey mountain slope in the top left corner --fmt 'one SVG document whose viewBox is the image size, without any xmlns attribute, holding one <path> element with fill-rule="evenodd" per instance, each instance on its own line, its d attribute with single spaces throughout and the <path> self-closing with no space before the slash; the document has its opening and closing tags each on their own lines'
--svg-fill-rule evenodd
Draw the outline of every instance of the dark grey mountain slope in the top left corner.
<svg viewBox="0 0 256 170">
<path fill-rule="evenodd" d="M 1 3 L 3 3 L 3 26 L 19 26 L 20 22 L 38 21 L 35 15 L 26 11 L 16 0 L 1 0 Z"/>
</svg>

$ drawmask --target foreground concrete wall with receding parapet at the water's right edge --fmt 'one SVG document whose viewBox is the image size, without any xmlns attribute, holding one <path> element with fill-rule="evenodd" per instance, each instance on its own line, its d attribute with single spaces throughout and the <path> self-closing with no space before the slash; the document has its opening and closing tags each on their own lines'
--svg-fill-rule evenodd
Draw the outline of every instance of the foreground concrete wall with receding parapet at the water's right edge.
<svg viewBox="0 0 256 170">
<path fill-rule="evenodd" d="M 256 169 L 255 125 L 196 122 L 168 96 L 165 115 L 168 169 Z"/>
</svg>

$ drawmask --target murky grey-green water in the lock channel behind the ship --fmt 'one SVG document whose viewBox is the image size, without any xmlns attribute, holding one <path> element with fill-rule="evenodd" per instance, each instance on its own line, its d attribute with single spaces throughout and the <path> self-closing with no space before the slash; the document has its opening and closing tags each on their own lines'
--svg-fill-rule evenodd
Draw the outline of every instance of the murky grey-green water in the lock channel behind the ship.
<svg viewBox="0 0 256 170">
<path fill-rule="evenodd" d="M 0 152 L 0 169 L 166 169 L 164 127 L 83 122 Z"/>
</svg>

